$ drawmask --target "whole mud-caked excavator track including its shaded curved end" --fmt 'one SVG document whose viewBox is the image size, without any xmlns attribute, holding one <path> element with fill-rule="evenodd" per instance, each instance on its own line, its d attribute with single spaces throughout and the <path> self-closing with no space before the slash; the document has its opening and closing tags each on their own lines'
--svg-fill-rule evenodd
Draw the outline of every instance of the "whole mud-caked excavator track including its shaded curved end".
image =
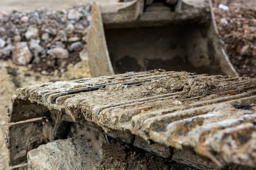
<svg viewBox="0 0 256 170">
<path fill-rule="evenodd" d="M 195 169 L 256 167 L 256 79 L 248 77 L 154 70 L 49 82 L 17 89 L 7 115 L 12 166 L 85 125 Z"/>
</svg>

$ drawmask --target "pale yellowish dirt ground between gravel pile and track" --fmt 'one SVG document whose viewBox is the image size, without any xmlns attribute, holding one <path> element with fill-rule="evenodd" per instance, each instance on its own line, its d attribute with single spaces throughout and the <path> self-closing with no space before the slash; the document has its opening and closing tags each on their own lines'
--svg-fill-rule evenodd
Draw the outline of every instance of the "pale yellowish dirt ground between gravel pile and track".
<svg viewBox="0 0 256 170">
<path fill-rule="evenodd" d="M 67 71 L 61 77 L 35 73 L 24 66 L 13 64 L 11 60 L 0 63 L 0 170 L 5 170 L 8 167 L 8 152 L 4 138 L 7 128 L 6 109 L 11 105 L 10 99 L 15 94 L 15 90 L 28 85 L 57 80 L 79 79 L 81 77 L 90 77 L 86 61 L 78 62 L 76 65 L 69 65 Z"/>
</svg>

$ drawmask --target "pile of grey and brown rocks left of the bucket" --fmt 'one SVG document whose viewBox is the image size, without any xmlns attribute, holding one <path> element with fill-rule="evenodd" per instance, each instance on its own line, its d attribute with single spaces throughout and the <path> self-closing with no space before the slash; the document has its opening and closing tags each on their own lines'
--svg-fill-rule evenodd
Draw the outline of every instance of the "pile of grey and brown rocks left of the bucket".
<svg viewBox="0 0 256 170">
<path fill-rule="evenodd" d="M 41 74 L 64 72 L 69 63 L 87 59 L 90 20 L 90 4 L 61 11 L 0 13 L 0 61 L 12 59 Z"/>
</svg>

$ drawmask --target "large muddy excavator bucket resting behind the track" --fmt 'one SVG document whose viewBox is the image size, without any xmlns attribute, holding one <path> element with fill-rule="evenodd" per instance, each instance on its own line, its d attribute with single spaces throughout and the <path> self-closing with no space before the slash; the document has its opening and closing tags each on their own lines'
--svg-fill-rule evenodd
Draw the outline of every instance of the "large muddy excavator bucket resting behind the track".
<svg viewBox="0 0 256 170">
<path fill-rule="evenodd" d="M 88 58 L 93 77 L 148 71 L 238 76 L 218 36 L 211 0 L 93 3 Z"/>
</svg>

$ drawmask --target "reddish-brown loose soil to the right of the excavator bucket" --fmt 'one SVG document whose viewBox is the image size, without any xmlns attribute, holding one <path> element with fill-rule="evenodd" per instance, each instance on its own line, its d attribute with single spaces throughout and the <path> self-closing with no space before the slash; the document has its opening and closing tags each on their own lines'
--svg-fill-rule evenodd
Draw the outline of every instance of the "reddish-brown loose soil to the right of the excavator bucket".
<svg viewBox="0 0 256 170">
<path fill-rule="evenodd" d="M 218 8 L 220 3 L 229 10 Z M 240 76 L 256 77 L 256 1 L 214 0 L 213 6 L 231 63 Z"/>
</svg>

